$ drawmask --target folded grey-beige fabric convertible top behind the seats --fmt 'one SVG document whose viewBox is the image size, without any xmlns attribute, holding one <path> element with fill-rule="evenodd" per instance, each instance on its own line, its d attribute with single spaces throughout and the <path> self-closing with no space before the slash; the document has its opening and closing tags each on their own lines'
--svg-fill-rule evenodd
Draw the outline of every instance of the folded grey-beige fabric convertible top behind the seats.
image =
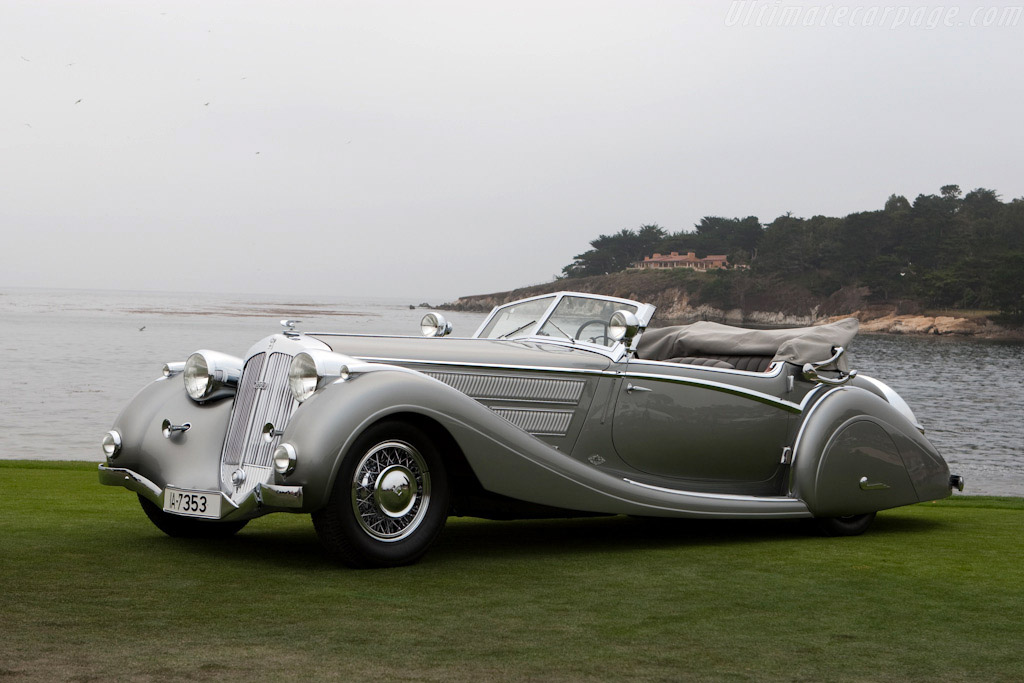
<svg viewBox="0 0 1024 683">
<path fill-rule="evenodd" d="M 690 325 L 647 330 L 640 338 L 637 356 L 664 360 L 701 355 L 765 355 L 798 366 L 820 362 L 833 356 L 836 346 L 849 347 L 859 324 L 847 317 L 828 325 L 784 330 L 746 330 L 701 321 Z M 846 372 L 846 356 L 839 370 Z"/>
</svg>

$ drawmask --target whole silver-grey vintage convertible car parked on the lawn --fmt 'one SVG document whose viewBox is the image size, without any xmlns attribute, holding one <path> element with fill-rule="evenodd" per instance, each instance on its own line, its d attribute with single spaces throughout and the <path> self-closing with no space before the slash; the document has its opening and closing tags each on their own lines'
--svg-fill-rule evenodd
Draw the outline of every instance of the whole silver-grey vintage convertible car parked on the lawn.
<svg viewBox="0 0 1024 683">
<path fill-rule="evenodd" d="M 813 518 L 963 489 L 907 404 L 847 367 L 853 318 L 647 330 L 650 305 L 562 292 L 469 338 L 299 332 L 168 364 L 102 439 L 101 483 L 173 537 L 311 513 L 351 566 L 418 560 L 449 515 Z"/>
</svg>

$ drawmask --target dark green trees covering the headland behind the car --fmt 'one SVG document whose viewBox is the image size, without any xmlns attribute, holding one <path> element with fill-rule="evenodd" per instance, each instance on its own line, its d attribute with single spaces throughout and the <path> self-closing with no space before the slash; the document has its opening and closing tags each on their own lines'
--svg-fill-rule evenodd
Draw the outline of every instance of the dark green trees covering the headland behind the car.
<svg viewBox="0 0 1024 683">
<path fill-rule="evenodd" d="M 892 195 L 884 208 L 843 218 L 792 214 L 707 216 L 692 230 L 641 225 L 602 234 L 562 268 L 571 279 L 625 270 L 655 252 L 725 254 L 740 271 L 710 273 L 711 291 L 730 298 L 785 283 L 816 297 L 865 288 L 869 301 L 912 300 L 930 308 L 1000 310 L 1024 316 L 1024 198 L 1002 202 L 992 189 L 966 195 L 944 185 L 911 203 Z M 734 297 L 733 297 L 734 298 Z"/>
</svg>

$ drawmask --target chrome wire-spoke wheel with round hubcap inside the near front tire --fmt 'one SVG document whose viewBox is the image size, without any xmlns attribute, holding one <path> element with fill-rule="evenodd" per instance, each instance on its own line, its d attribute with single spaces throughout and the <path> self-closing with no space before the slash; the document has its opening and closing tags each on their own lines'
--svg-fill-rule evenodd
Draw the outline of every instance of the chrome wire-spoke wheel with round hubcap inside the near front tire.
<svg viewBox="0 0 1024 683">
<path fill-rule="evenodd" d="M 408 538 L 430 505 L 430 472 L 411 443 L 384 441 L 372 447 L 352 475 L 352 512 L 378 541 Z"/>
</svg>

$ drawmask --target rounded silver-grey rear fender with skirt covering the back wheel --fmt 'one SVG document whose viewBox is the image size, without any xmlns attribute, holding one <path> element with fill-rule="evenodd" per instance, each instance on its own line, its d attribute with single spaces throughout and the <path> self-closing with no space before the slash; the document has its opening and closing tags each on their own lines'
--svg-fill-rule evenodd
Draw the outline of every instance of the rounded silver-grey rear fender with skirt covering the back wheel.
<svg viewBox="0 0 1024 683">
<path fill-rule="evenodd" d="M 949 468 L 896 408 L 844 386 L 805 413 L 791 488 L 815 516 L 862 514 L 946 498 Z"/>
</svg>

